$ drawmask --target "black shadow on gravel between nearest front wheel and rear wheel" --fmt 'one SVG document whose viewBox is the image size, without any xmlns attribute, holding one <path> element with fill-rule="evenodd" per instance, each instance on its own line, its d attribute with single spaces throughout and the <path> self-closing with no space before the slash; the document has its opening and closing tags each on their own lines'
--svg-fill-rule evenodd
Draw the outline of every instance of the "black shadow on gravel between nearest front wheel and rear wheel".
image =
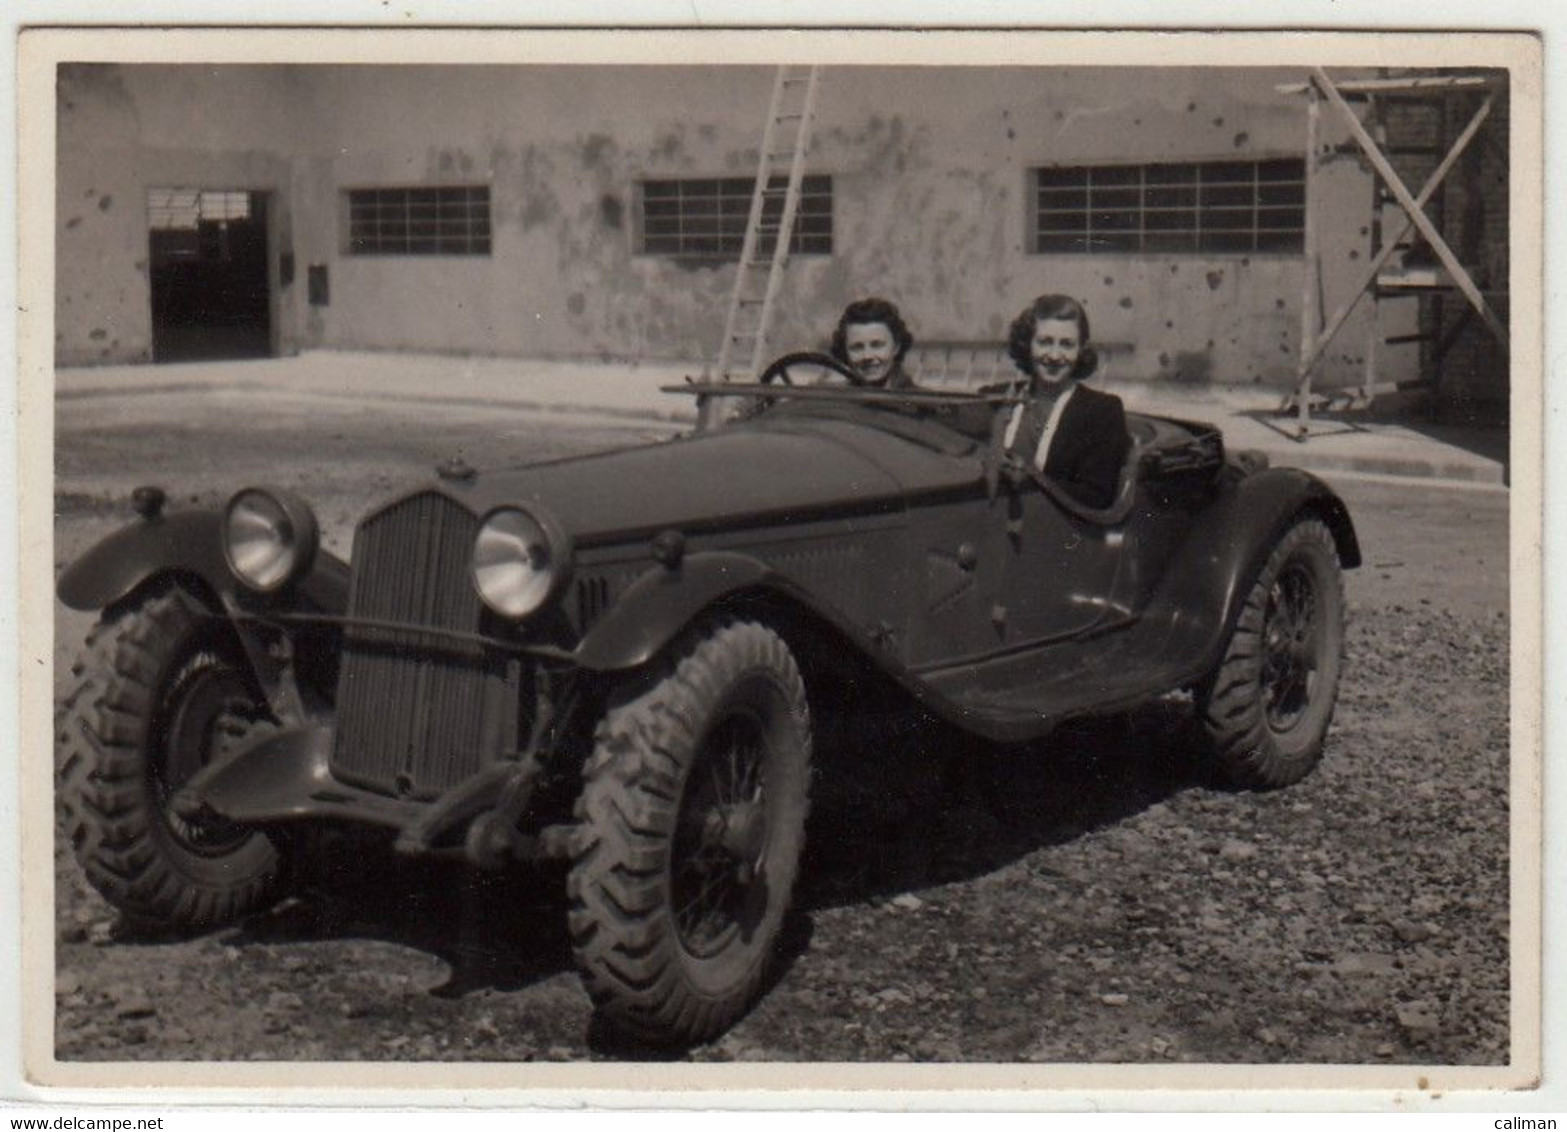
<svg viewBox="0 0 1567 1132">
<path fill-rule="evenodd" d="M 918 731 L 870 754 L 818 749 L 801 909 L 972 880 L 1183 790 L 1227 789 L 1183 699 L 1014 746 L 934 723 Z"/>
</svg>

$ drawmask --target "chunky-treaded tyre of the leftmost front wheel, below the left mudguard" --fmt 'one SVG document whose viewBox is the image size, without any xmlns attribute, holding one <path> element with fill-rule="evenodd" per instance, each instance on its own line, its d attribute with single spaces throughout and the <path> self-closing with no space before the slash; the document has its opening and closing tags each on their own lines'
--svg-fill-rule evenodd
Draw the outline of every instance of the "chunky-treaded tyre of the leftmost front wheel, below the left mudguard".
<svg viewBox="0 0 1567 1132">
<path fill-rule="evenodd" d="M 169 811 L 174 792 L 254 727 L 274 726 L 229 627 L 169 588 L 105 615 L 61 704 L 60 800 L 81 869 L 133 920 L 207 928 L 277 895 L 262 833 Z"/>
</svg>

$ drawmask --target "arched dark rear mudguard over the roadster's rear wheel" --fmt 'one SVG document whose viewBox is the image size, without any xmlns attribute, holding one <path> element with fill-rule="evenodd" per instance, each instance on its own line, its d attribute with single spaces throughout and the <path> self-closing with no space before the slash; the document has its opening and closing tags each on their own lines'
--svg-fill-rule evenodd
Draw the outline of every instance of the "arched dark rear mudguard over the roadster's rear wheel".
<svg viewBox="0 0 1567 1132">
<path fill-rule="evenodd" d="M 1224 491 L 1197 516 L 1182 552 L 1166 571 L 1145 621 L 1167 629 L 1172 655 L 1194 671 L 1218 663 L 1225 635 L 1276 539 L 1299 514 L 1319 517 L 1334 535 L 1338 560 L 1360 564 L 1349 510 L 1326 483 L 1297 469 L 1268 469 Z"/>
</svg>

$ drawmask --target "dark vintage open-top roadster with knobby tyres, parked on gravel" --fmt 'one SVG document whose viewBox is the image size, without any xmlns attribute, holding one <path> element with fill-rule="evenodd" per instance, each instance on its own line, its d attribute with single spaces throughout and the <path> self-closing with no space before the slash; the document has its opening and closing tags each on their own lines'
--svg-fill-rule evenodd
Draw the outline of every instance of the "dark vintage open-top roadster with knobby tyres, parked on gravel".
<svg viewBox="0 0 1567 1132">
<path fill-rule="evenodd" d="M 807 370 L 846 384 L 788 383 Z M 484 869 L 566 858 L 600 1018 L 697 1043 L 763 983 L 813 715 L 870 673 L 995 740 L 1191 690 L 1239 784 L 1312 770 L 1359 563 L 1329 488 L 1133 415 L 1120 491 L 1087 510 L 965 425 L 997 397 L 854 381 L 788 356 L 693 386 L 765 395 L 724 428 L 442 466 L 349 563 L 288 492 L 138 489 L 141 519 L 58 582 L 102 610 L 60 710 L 88 878 L 196 928 L 274 902 L 328 825 Z"/>
</svg>

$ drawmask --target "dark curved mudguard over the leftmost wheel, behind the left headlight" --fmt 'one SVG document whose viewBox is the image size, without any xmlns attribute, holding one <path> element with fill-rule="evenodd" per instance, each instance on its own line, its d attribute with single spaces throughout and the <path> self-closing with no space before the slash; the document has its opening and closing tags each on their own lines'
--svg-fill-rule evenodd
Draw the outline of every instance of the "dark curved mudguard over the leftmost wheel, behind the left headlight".
<svg viewBox="0 0 1567 1132">
<path fill-rule="evenodd" d="M 219 511 L 180 511 L 122 527 L 71 563 L 55 593 L 74 610 L 100 610 L 163 574 L 201 579 L 215 594 L 235 588 L 223 557 Z M 318 611 L 343 613 L 348 564 L 318 550 L 293 593 Z"/>
</svg>

